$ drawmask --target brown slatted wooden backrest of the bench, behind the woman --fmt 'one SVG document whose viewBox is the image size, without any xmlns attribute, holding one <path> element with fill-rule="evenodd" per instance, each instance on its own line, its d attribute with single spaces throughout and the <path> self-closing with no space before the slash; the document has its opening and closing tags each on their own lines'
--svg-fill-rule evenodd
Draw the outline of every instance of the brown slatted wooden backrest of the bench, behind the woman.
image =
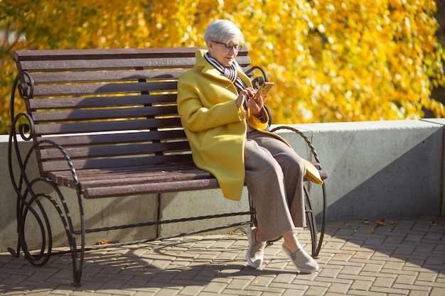
<svg viewBox="0 0 445 296">
<path fill-rule="evenodd" d="M 33 78 L 26 111 L 43 138 L 65 148 L 76 169 L 192 162 L 176 109 L 179 75 L 196 48 L 20 50 L 18 70 Z M 237 62 L 247 70 L 250 57 Z M 36 151 L 41 175 L 67 170 L 58 149 Z"/>
</svg>

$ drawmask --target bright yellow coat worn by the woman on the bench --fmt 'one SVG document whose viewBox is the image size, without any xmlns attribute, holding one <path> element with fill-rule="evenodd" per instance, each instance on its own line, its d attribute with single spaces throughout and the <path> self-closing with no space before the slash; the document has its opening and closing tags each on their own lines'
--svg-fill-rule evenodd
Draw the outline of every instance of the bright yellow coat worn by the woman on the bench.
<svg viewBox="0 0 445 296">
<path fill-rule="evenodd" d="M 262 123 L 249 113 L 246 119 L 242 107 L 237 108 L 235 85 L 210 65 L 204 54 L 205 50 L 197 50 L 195 67 L 179 78 L 178 113 L 195 165 L 217 178 L 226 198 L 240 200 L 247 122 L 251 128 L 264 130 L 267 121 Z M 250 78 L 239 65 L 237 68 L 238 77 L 252 87 Z M 267 112 L 262 113 L 267 119 Z"/>
</svg>

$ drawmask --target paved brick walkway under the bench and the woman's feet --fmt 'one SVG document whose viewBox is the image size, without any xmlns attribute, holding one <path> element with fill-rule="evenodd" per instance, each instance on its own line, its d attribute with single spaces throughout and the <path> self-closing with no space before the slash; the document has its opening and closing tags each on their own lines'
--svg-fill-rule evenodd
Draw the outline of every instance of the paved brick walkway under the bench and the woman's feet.
<svg viewBox="0 0 445 296">
<path fill-rule="evenodd" d="M 366 221 L 365 221 L 366 222 Z M 310 249 L 309 231 L 299 240 Z M 72 287 L 70 256 L 43 268 L 0 253 L 1 295 L 445 295 L 445 218 L 329 223 L 311 275 L 296 273 L 267 247 L 260 270 L 245 261 L 247 237 L 193 236 L 107 248 L 86 255 L 82 286 Z"/>
</svg>

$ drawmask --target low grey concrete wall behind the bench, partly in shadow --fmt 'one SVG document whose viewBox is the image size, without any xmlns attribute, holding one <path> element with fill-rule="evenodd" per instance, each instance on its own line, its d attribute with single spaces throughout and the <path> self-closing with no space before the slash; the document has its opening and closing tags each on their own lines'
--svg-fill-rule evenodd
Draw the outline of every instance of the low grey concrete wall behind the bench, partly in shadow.
<svg viewBox="0 0 445 296">
<path fill-rule="evenodd" d="M 422 121 L 368 121 L 338 124 L 299 124 L 311 140 L 324 169 L 328 171 L 328 221 L 351 219 L 396 219 L 400 216 L 444 215 L 444 124 L 445 119 Z M 306 159 L 313 159 L 303 139 L 292 131 L 279 131 Z M 16 246 L 16 196 L 11 186 L 7 163 L 8 136 L 0 136 L 0 251 Z M 28 143 L 22 143 L 29 146 Z M 28 170 L 36 172 L 31 163 Z M 43 183 L 38 190 L 45 189 Z M 321 186 L 311 185 L 311 199 L 321 219 Z M 74 190 L 64 188 L 70 207 L 75 207 Z M 144 197 L 116 197 L 82 200 L 88 228 L 120 223 L 149 221 L 158 215 L 176 219 L 189 215 L 240 212 L 249 209 L 247 190 L 241 202 L 224 199 L 220 190 L 151 194 Z M 48 207 L 51 207 L 48 203 Z M 65 245 L 63 226 L 55 209 L 48 211 L 55 245 Z M 73 220 L 78 215 L 73 212 Z M 28 215 L 26 234 L 31 248 L 39 247 L 40 230 Z M 220 226 L 248 221 L 248 216 L 210 221 L 169 224 L 138 229 L 120 229 L 87 235 L 87 243 L 128 241 L 155 237 L 157 234 L 191 231 L 203 224 Z M 228 233 L 229 230 L 218 231 Z"/>
</svg>

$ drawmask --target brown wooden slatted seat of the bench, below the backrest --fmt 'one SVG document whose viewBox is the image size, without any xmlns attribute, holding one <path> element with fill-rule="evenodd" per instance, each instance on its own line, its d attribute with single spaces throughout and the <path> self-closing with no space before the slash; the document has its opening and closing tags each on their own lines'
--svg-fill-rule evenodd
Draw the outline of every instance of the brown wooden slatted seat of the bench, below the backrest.
<svg viewBox="0 0 445 296">
<path fill-rule="evenodd" d="M 326 179 L 326 171 L 319 172 L 323 174 L 321 178 Z M 194 163 L 76 170 L 76 174 L 86 199 L 219 188 L 215 177 L 196 168 Z M 48 177 L 60 186 L 75 189 L 70 170 L 48 172 Z"/>
</svg>

